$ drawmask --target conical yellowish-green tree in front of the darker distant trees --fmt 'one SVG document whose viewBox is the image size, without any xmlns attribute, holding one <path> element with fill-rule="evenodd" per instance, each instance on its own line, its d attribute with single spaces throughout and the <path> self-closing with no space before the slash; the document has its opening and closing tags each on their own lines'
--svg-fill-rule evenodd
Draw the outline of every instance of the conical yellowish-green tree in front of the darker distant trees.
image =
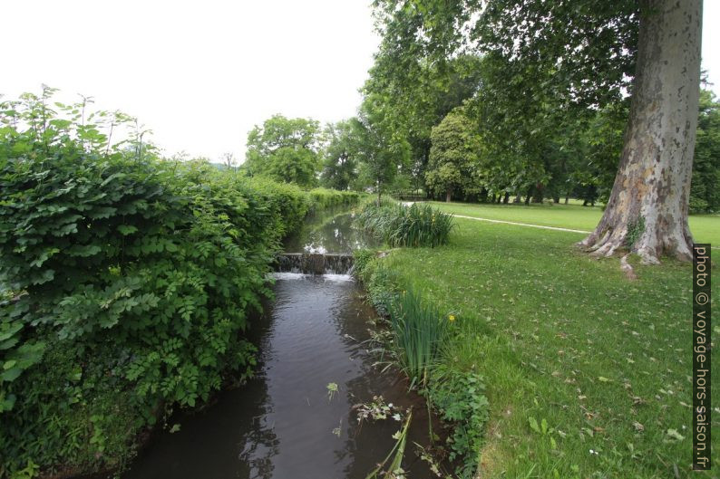
<svg viewBox="0 0 720 479">
<path fill-rule="evenodd" d="M 433 128 L 425 179 L 431 190 L 444 193 L 445 201 L 451 201 L 454 193 L 464 194 L 472 188 L 480 152 L 480 140 L 473 126 L 462 109 L 455 109 Z"/>
</svg>

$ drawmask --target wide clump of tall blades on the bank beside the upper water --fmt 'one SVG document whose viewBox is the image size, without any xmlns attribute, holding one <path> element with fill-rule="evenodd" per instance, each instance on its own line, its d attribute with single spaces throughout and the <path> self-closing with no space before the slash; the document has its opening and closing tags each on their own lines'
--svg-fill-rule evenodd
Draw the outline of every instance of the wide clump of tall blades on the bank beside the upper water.
<svg viewBox="0 0 720 479">
<path fill-rule="evenodd" d="M 429 205 L 403 206 L 383 202 L 368 204 L 358 223 L 390 246 L 439 246 L 447 244 L 454 227 L 452 216 Z"/>
</svg>

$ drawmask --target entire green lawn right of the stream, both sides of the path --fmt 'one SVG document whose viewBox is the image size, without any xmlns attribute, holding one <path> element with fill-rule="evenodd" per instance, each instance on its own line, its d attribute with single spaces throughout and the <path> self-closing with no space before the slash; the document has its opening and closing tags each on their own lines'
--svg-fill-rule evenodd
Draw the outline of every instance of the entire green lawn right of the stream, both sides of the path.
<svg viewBox="0 0 720 479">
<path fill-rule="evenodd" d="M 438 206 L 579 229 L 600 216 L 582 206 Z M 720 218 L 694 219 L 702 220 L 703 235 L 716 235 Z M 394 250 L 384 264 L 423 302 L 457 317 L 443 361 L 486 380 L 491 421 L 480 477 L 720 474 L 718 435 L 714 474 L 690 470 L 689 264 L 635 262 L 639 279 L 630 282 L 617 258 L 576 251 L 578 234 L 456 221 L 451 244 Z M 720 281 L 714 293 L 720 297 Z M 717 354 L 713 367 L 720 370 Z M 715 373 L 715 398 L 719 381 Z M 714 412 L 720 430 L 720 408 Z"/>
</svg>

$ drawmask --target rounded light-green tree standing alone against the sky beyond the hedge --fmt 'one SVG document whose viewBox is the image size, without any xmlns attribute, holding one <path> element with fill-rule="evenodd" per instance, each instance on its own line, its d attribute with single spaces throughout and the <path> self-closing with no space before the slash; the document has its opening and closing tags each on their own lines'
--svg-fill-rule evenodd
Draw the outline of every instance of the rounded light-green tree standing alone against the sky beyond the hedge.
<svg viewBox="0 0 720 479">
<path fill-rule="evenodd" d="M 243 168 L 249 175 L 313 187 L 319 169 L 319 132 L 316 120 L 275 115 L 248 133 Z"/>
</svg>

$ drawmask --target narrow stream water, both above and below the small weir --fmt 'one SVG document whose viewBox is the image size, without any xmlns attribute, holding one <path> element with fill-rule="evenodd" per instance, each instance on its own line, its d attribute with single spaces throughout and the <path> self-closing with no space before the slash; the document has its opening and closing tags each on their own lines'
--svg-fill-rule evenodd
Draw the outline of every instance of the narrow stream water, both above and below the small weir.
<svg viewBox="0 0 720 479">
<path fill-rule="evenodd" d="M 366 241 L 350 220 L 316 219 L 287 247 L 348 252 Z M 180 430 L 156 435 L 123 477 L 363 479 L 402 426 L 393 418 L 358 423 L 356 405 L 381 395 L 413 407 L 403 465 L 411 478 L 431 477 L 414 445 L 428 445 L 431 418 L 402 376 L 381 373 L 366 350 L 375 312 L 361 286 L 348 275 L 277 273 L 274 289 L 275 301 L 254 325 L 257 376 L 199 413 L 173 417 L 169 426 Z"/>
</svg>

